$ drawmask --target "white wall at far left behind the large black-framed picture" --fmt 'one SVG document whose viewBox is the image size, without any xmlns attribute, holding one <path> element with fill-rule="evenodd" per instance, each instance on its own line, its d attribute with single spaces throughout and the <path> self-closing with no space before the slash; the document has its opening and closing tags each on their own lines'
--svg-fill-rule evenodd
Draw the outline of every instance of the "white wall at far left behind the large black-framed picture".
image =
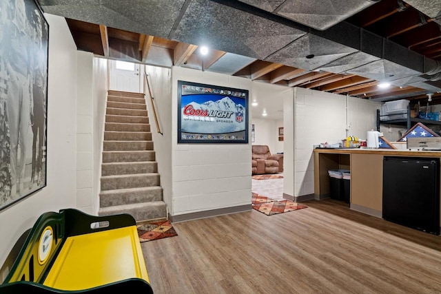
<svg viewBox="0 0 441 294">
<path fill-rule="evenodd" d="M 0 212 L 0 264 L 42 213 L 76 207 L 76 46 L 65 19 L 45 17 L 50 25 L 47 187 Z"/>
</svg>

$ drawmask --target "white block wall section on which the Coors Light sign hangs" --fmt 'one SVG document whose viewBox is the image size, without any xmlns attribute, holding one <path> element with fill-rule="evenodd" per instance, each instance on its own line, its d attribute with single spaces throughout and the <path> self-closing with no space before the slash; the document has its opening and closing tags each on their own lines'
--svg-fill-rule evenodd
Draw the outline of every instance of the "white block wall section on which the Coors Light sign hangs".
<svg viewBox="0 0 441 294">
<path fill-rule="evenodd" d="M 172 67 L 172 216 L 251 204 L 251 138 L 249 144 L 178 145 L 178 80 L 252 88 L 247 78 Z"/>
</svg>

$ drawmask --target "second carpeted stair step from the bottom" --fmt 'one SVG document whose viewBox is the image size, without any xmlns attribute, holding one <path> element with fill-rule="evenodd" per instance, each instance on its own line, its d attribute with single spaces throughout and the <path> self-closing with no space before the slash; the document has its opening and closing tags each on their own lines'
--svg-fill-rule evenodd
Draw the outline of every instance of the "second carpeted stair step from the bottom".
<svg viewBox="0 0 441 294">
<path fill-rule="evenodd" d="M 107 190 L 99 193 L 100 207 L 161 200 L 163 200 L 163 189 L 159 186 Z"/>
</svg>

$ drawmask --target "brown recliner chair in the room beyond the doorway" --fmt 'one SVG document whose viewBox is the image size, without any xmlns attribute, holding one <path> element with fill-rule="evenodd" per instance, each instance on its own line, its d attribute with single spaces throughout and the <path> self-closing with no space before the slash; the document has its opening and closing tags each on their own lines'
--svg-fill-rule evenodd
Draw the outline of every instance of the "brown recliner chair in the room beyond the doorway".
<svg viewBox="0 0 441 294">
<path fill-rule="evenodd" d="M 252 174 L 276 174 L 283 171 L 283 154 L 271 154 L 267 145 L 252 145 Z"/>
</svg>

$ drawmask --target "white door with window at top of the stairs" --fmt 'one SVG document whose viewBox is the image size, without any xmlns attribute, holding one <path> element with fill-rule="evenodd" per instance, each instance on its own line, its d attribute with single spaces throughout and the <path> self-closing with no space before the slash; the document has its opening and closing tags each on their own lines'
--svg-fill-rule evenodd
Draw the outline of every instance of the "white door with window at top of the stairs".
<svg viewBox="0 0 441 294">
<path fill-rule="evenodd" d="M 139 63 L 110 61 L 110 90 L 142 93 Z"/>
</svg>

